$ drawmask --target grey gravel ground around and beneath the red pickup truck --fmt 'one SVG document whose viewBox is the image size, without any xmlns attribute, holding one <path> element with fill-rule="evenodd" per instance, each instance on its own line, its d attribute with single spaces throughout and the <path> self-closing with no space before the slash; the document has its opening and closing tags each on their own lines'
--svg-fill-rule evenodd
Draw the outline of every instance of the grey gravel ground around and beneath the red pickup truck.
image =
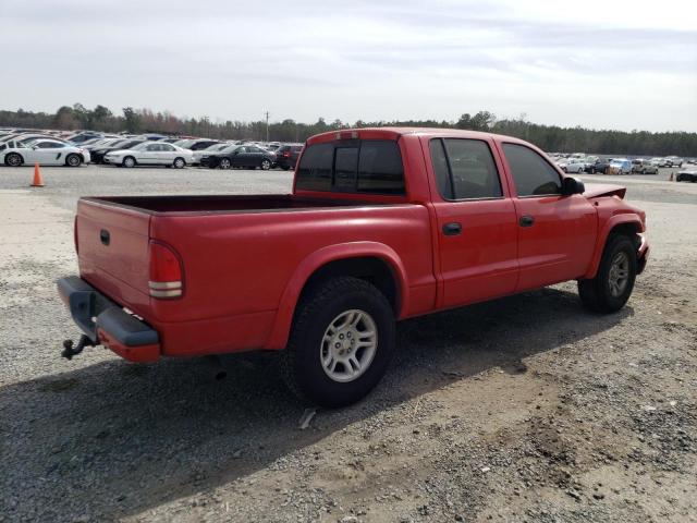
<svg viewBox="0 0 697 523">
<path fill-rule="evenodd" d="M 697 184 L 624 183 L 652 253 L 619 314 L 573 283 L 412 319 L 357 405 L 318 411 L 273 355 L 130 365 L 75 337 L 75 198 L 289 192 L 282 171 L 0 168 L 0 521 L 697 521 Z M 669 171 L 670 172 L 670 171 Z"/>
</svg>

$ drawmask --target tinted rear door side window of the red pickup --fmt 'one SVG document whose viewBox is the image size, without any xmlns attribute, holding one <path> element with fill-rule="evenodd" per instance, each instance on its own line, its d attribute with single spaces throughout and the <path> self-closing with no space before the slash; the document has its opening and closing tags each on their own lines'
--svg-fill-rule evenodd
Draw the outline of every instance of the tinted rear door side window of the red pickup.
<svg viewBox="0 0 697 523">
<path fill-rule="evenodd" d="M 500 198 L 501 180 L 486 142 L 468 138 L 432 139 L 431 161 L 445 199 Z"/>
</svg>

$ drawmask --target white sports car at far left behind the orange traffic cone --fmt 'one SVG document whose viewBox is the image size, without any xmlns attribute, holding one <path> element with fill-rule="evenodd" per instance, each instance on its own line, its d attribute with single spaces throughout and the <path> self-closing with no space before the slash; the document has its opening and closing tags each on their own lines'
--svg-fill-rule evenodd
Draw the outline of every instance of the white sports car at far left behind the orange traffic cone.
<svg viewBox="0 0 697 523">
<path fill-rule="evenodd" d="M 24 163 L 80 167 L 89 163 L 89 151 L 50 138 L 35 139 L 30 144 L 11 139 L 0 144 L 0 162 L 9 167 Z"/>
</svg>

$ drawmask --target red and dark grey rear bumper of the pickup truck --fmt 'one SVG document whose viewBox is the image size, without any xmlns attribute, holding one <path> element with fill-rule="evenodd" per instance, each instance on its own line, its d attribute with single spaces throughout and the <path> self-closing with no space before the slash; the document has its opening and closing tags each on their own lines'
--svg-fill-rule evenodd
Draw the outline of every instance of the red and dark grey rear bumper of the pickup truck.
<svg viewBox="0 0 697 523">
<path fill-rule="evenodd" d="M 158 332 L 82 278 L 61 278 L 58 292 L 77 327 L 94 343 L 101 343 L 131 362 L 155 362 L 160 357 Z"/>
</svg>

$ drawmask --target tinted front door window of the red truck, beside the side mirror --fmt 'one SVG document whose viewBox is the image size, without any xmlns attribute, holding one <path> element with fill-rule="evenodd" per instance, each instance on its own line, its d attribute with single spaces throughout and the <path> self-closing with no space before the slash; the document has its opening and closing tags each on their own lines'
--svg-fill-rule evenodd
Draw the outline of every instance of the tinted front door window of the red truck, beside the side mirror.
<svg viewBox="0 0 697 523">
<path fill-rule="evenodd" d="M 533 149 L 518 144 L 503 144 L 503 153 L 511 166 L 518 196 L 562 193 L 559 173 Z"/>
</svg>

